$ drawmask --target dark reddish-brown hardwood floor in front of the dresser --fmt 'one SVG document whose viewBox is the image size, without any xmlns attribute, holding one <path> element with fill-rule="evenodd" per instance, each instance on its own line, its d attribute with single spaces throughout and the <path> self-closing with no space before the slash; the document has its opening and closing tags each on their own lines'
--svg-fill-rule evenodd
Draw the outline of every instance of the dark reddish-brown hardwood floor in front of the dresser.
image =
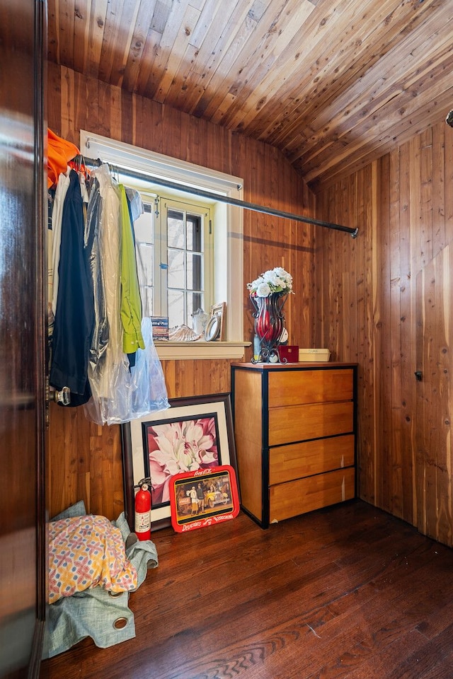
<svg viewBox="0 0 453 679">
<path fill-rule="evenodd" d="M 362 501 L 152 536 L 137 637 L 45 679 L 452 679 L 453 550 Z"/>
</svg>

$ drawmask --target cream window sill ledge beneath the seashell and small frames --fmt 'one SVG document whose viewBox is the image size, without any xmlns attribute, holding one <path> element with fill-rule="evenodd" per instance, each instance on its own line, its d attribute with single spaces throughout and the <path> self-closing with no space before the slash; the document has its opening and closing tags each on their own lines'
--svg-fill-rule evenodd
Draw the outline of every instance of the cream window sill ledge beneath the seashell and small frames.
<svg viewBox="0 0 453 679">
<path fill-rule="evenodd" d="M 244 349 L 251 342 L 166 342 L 154 340 L 157 355 L 161 361 L 183 361 L 212 359 L 243 359 Z"/>
</svg>

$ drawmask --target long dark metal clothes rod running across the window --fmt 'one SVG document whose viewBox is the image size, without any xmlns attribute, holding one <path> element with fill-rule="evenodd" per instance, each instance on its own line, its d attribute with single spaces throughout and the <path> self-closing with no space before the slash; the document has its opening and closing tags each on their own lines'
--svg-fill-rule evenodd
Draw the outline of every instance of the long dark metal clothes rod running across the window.
<svg viewBox="0 0 453 679">
<path fill-rule="evenodd" d="M 87 166 L 98 167 L 99 162 L 94 158 L 84 158 L 84 163 Z M 323 226 L 325 228 L 333 228 L 336 231 L 345 231 L 345 233 L 350 233 L 352 238 L 357 237 L 358 228 L 351 228 L 350 226 L 342 226 L 341 224 L 333 224 L 331 221 L 321 221 L 321 219 L 314 219 L 312 217 L 306 217 L 302 214 L 292 214 L 292 212 L 285 212 L 284 210 L 275 210 L 272 207 L 264 207 L 263 205 L 257 205 L 255 203 L 249 203 L 245 200 L 239 200 L 237 198 L 229 198 L 228 196 L 222 196 L 221 194 L 212 193 L 210 191 L 205 191 L 202 189 L 190 188 L 184 186 L 183 184 L 178 184 L 176 182 L 170 182 L 166 179 L 161 179 L 159 177 L 154 177 L 153 175 L 148 175 L 142 172 L 136 172 L 135 170 L 130 170 L 129 168 L 122 167 L 120 165 L 112 165 L 106 163 L 109 167 L 118 170 L 119 173 L 125 175 L 126 177 L 136 177 L 137 179 L 144 180 L 146 182 L 151 182 L 153 184 L 159 184 L 160 186 L 166 186 L 170 189 L 175 189 L 178 191 L 183 191 L 185 193 L 190 193 L 195 196 L 200 196 L 202 198 L 215 198 L 219 202 L 228 203 L 229 205 L 236 205 L 236 207 L 243 207 L 247 210 L 253 210 L 255 212 L 262 212 L 263 214 L 271 214 L 275 217 L 283 217 L 285 219 L 294 219 L 295 221 L 303 221 L 306 224 L 314 224 L 315 226 Z"/>
</svg>

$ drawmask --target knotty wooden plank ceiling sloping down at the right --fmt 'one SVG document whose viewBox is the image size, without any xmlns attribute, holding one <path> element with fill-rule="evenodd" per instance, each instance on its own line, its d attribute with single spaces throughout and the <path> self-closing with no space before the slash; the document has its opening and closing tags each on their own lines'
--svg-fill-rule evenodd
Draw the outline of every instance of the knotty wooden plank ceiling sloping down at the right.
<svg viewBox="0 0 453 679">
<path fill-rule="evenodd" d="M 49 58 L 276 146 L 315 191 L 453 108 L 452 0 L 48 0 Z"/>
</svg>

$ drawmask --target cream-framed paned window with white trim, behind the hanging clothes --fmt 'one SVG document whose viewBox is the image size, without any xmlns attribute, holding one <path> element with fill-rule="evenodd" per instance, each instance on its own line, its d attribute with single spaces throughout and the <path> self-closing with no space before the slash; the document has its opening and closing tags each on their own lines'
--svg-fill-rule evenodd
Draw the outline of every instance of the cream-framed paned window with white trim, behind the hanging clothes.
<svg viewBox="0 0 453 679">
<path fill-rule="evenodd" d="M 186 342 L 171 347 L 160 342 L 156 343 L 159 356 L 241 359 L 248 344 L 243 342 L 242 209 L 221 199 L 241 199 L 241 178 L 85 130 L 81 130 L 80 149 L 87 158 L 101 158 L 118 171 L 127 170 L 128 177 L 120 180 L 135 185 L 142 194 L 146 211 L 139 228 L 137 221 L 135 227 L 139 271 L 146 279 L 147 315 L 168 315 L 170 326 L 191 327 L 190 315 L 197 308 L 209 312 L 211 305 L 226 302 L 225 343 Z M 130 178 L 134 173 L 137 182 Z M 157 182 L 144 180 L 144 175 Z"/>
</svg>

